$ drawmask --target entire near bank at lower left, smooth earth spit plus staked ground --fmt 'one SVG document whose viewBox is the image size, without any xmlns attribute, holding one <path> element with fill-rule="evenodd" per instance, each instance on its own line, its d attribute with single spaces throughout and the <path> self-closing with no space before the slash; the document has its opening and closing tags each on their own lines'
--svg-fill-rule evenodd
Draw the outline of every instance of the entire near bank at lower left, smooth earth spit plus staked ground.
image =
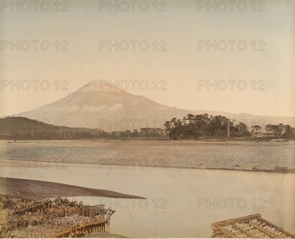
<svg viewBox="0 0 295 239">
<path fill-rule="evenodd" d="M 77 196 L 145 199 L 50 181 L 0 177 L 0 237 L 56 238 L 109 233 L 109 220 L 115 210 L 66 198 Z"/>
</svg>

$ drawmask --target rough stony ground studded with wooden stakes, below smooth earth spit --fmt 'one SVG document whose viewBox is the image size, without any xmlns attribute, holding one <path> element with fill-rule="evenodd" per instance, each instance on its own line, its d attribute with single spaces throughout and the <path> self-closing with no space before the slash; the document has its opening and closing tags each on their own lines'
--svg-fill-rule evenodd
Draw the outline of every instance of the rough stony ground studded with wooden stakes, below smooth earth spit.
<svg viewBox="0 0 295 239">
<path fill-rule="evenodd" d="M 89 207 L 67 198 L 21 199 L 0 196 L 0 238 L 81 237 L 110 232 L 115 212 L 104 205 Z"/>
</svg>

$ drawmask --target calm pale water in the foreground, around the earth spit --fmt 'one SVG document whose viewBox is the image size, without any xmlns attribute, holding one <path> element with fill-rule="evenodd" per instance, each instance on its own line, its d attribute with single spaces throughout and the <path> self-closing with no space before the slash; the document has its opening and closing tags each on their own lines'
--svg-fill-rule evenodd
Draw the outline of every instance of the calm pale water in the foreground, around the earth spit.
<svg viewBox="0 0 295 239">
<path fill-rule="evenodd" d="M 87 164 L 67 164 L 67 169 L 61 169 L 53 163 L 44 169 L 44 165 L 32 162 L 31 167 L 27 166 L 28 169 L 11 169 L 2 164 L 1 176 L 73 184 L 147 198 L 78 198 L 90 205 L 111 205 L 116 210 L 111 218 L 111 232 L 119 235 L 210 237 L 211 223 L 254 213 L 295 232 L 294 173 L 151 167 L 110 169 Z"/>
</svg>

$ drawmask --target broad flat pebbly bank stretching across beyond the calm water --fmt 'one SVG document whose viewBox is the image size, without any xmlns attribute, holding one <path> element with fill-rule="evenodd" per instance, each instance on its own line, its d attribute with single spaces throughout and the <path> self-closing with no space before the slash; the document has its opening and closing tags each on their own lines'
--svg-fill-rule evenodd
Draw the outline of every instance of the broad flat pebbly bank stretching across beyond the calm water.
<svg viewBox="0 0 295 239">
<path fill-rule="evenodd" d="M 34 161 L 65 168 L 68 163 L 81 163 L 109 165 L 112 169 L 139 166 L 295 172 L 294 142 L 101 139 L 2 141 L 0 146 L 0 163 L 7 165 L 16 160 L 19 167 L 30 167 L 24 161 Z"/>
</svg>

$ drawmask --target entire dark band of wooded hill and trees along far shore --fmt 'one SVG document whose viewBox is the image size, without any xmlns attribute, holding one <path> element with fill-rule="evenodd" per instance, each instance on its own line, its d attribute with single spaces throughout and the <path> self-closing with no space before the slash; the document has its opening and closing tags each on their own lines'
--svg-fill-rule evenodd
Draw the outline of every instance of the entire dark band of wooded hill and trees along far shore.
<svg viewBox="0 0 295 239">
<path fill-rule="evenodd" d="M 26 123 L 26 124 L 25 124 Z M 251 136 L 248 127 L 240 122 L 234 125 L 225 116 L 212 116 L 208 114 L 187 114 L 183 119 L 173 118 L 166 121 L 165 129 L 160 128 L 141 128 L 140 131 L 130 130 L 104 132 L 100 129 L 56 127 L 54 125 L 30 120 L 25 117 L 6 117 L 0 119 L 1 139 L 84 139 L 84 138 L 109 138 L 109 137 L 142 137 L 142 138 L 161 138 L 170 139 L 196 138 L 196 137 L 227 137 L 230 130 L 231 137 Z M 29 127 L 24 127 L 29 125 Z M 267 124 L 263 133 L 263 128 L 259 125 L 251 127 L 252 133 L 260 134 L 263 137 L 283 137 L 295 139 L 295 128 L 290 125 Z M 258 133 L 260 132 L 260 133 Z"/>
</svg>

